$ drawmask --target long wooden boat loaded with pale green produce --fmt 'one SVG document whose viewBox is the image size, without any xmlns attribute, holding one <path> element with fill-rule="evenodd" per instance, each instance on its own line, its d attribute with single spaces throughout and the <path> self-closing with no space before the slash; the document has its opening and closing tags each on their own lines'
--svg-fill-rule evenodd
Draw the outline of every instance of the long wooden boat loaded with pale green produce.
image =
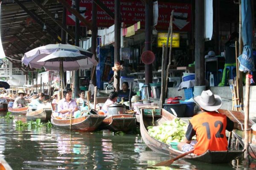
<svg viewBox="0 0 256 170">
<path fill-rule="evenodd" d="M 153 108 L 141 108 L 140 109 L 140 133 L 145 144 L 151 149 L 159 153 L 166 155 L 171 154 L 172 156 L 178 156 L 183 154 L 179 150 L 173 149 L 169 144 L 160 142 L 159 140 L 151 137 L 148 133 L 147 127 L 152 126 Z M 154 113 L 154 126 L 161 125 L 167 120 L 172 120 L 176 118 L 173 114 L 169 113 L 164 109 L 155 109 Z M 197 156 L 195 154 L 189 154 L 184 156 L 183 159 L 202 161 L 207 163 L 227 163 L 235 159 L 237 156 L 241 155 L 243 151 L 233 150 L 233 151 L 207 151 L 204 154 Z"/>
</svg>

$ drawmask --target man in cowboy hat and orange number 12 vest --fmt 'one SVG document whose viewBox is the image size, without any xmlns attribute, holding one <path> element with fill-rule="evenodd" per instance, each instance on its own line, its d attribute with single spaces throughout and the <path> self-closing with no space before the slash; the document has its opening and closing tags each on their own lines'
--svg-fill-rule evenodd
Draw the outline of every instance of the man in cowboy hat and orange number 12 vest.
<svg viewBox="0 0 256 170">
<path fill-rule="evenodd" d="M 227 150 L 227 137 L 225 131 L 232 131 L 234 122 L 227 116 L 216 112 L 221 108 L 221 97 L 212 94 L 210 90 L 203 91 L 201 96 L 194 97 L 202 113 L 192 117 L 186 131 L 184 142 L 178 144 L 178 149 L 188 152 L 194 149 L 196 155 L 201 155 L 207 150 Z M 196 141 L 192 137 L 196 135 Z"/>
</svg>

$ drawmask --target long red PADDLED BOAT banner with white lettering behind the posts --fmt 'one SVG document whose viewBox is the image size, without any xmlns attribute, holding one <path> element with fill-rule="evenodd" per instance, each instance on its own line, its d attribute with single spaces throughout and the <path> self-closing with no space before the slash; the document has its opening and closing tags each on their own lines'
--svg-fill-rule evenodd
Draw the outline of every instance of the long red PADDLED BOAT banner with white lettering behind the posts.
<svg viewBox="0 0 256 170">
<path fill-rule="evenodd" d="M 71 0 L 67 0 L 71 6 Z M 102 0 L 114 13 L 114 0 Z M 138 21 L 141 22 L 141 27 L 145 26 L 145 5 L 140 0 L 122 0 L 121 1 L 121 16 L 122 22 L 127 26 L 133 25 Z M 97 6 L 97 26 L 109 27 L 114 24 L 114 20 L 108 16 L 99 6 Z M 191 4 L 188 3 L 166 3 L 158 2 L 158 22 L 157 29 L 166 30 L 169 27 L 171 11 L 174 10 L 174 30 L 175 31 L 190 31 L 191 29 Z M 92 0 L 80 1 L 80 14 L 92 21 Z M 67 11 L 67 25 L 74 26 L 76 17 Z M 84 26 L 81 23 L 81 26 Z"/>
</svg>

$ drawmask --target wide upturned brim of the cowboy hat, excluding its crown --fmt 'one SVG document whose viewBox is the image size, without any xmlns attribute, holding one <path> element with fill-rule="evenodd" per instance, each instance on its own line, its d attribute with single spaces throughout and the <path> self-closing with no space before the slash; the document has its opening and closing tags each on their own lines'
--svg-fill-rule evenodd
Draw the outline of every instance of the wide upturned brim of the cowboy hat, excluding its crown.
<svg viewBox="0 0 256 170">
<path fill-rule="evenodd" d="M 219 108 L 221 108 L 222 100 L 221 97 L 216 94 L 214 95 L 214 98 L 215 103 L 211 106 L 205 105 L 205 103 L 201 101 L 201 96 L 196 96 L 193 99 L 195 100 L 196 104 L 199 105 L 202 109 L 206 111 L 217 111 Z"/>
</svg>

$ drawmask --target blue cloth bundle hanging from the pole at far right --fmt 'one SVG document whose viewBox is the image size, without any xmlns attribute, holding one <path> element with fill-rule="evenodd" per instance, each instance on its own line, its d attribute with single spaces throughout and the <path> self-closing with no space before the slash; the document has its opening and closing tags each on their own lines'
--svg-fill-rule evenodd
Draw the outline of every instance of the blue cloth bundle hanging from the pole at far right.
<svg viewBox="0 0 256 170">
<path fill-rule="evenodd" d="M 251 0 L 241 1 L 242 15 L 242 39 L 244 43 L 243 53 L 238 57 L 240 62 L 240 71 L 254 71 L 253 60 L 253 20 L 251 11 Z"/>
</svg>

